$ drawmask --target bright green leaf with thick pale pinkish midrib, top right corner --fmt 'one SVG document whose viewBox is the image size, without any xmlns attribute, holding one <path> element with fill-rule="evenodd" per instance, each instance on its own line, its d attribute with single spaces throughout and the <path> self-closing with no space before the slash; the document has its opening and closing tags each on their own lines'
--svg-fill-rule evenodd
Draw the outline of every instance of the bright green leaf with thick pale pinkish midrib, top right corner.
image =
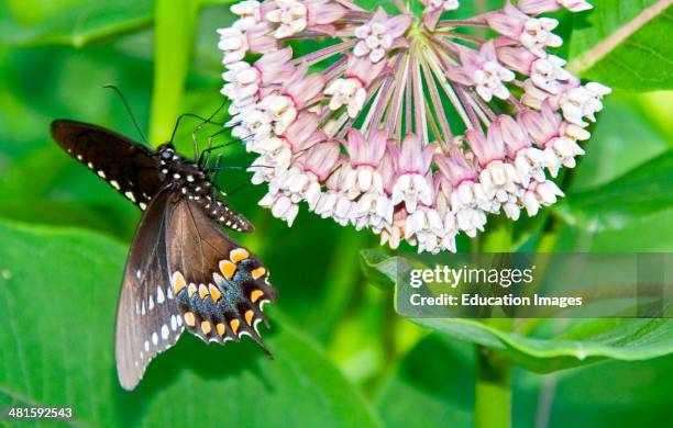
<svg viewBox="0 0 673 428">
<path fill-rule="evenodd" d="M 569 69 L 583 78 L 631 90 L 673 87 L 669 0 L 596 0 L 576 19 Z M 586 19 L 589 25 L 582 20 Z"/>
</svg>

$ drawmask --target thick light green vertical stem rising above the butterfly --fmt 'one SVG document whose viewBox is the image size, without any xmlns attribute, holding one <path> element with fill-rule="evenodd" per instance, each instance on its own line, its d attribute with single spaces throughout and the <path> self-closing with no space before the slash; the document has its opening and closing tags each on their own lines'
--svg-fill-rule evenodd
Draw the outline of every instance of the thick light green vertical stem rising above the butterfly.
<svg viewBox="0 0 673 428">
<path fill-rule="evenodd" d="M 154 90 L 150 120 L 150 140 L 154 146 L 170 138 L 180 113 L 198 11 L 198 0 L 155 1 Z"/>
</svg>

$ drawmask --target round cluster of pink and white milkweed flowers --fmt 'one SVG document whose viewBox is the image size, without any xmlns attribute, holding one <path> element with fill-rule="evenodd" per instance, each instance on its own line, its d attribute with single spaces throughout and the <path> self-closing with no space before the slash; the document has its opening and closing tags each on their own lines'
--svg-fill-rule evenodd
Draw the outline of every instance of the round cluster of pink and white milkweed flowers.
<svg viewBox="0 0 673 428">
<path fill-rule="evenodd" d="M 536 215 L 563 192 L 610 89 L 583 85 L 550 48 L 562 8 L 584 0 L 507 1 L 442 19 L 457 0 L 388 15 L 349 0 L 244 0 L 220 30 L 228 126 L 257 154 L 260 201 L 293 224 L 299 204 L 369 228 L 396 248 L 455 251 L 490 214 Z M 476 29 L 476 31 L 474 31 Z M 497 35 L 486 38 L 479 34 Z M 321 40 L 296 55 L 289 42 Z M 327 41 L 327 43 L 326 43 Z"/>
</svg>

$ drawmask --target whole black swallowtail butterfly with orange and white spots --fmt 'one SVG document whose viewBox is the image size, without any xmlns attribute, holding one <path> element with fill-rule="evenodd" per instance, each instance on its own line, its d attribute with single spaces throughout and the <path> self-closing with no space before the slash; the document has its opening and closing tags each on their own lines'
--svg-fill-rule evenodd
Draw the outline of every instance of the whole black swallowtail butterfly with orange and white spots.
<svg viewBox="0 0 673 428">
<path fill-rule="evenodd" d="M 199 162 L 172 144 L 152 151 L 74 121 L 54 121 L 52 136 L 144 211 L 117 309 L 117 371 L 124 388 L 133 390 L 185 328 L 206 342 L 250 335 L 264 347 L 257 324 L 268 325 L 262 306 L 276 291 L 260 260 L 216 226 L 253 229 L 218 198 Z"/>
</svg>

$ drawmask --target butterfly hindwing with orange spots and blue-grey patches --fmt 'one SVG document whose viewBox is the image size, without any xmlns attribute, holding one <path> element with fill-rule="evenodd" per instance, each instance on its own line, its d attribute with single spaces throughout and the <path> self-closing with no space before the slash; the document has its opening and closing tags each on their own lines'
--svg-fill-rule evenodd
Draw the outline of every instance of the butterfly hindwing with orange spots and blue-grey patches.
<svg viewBox="0 0 673 428">
<path fill-rule="evenodd" d="M 168 270 L 189 331 L 217 342 L 250 335 L 263 345 L 262 306 L 276 297 L 266 268 L 191 200 L 177 203 L 168 227 Z"/>
</svg>

